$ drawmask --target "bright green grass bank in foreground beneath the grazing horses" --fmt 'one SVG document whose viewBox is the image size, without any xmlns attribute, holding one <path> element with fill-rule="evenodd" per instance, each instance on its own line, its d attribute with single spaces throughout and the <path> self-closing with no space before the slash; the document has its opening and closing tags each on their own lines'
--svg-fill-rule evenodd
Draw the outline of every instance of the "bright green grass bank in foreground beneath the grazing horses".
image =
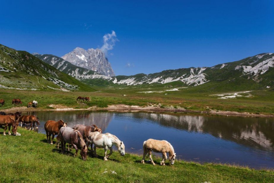
<svg viewBox="0 0 274 183">
<path fill-rule="evenodd" d="M 105 162 L 102 149 L 99 158 L 82 161 L 80 154 L 61 154 L 46 143 L 44 134 L 21 128 L 18 132 L 22 136 L 4 136 L 1 131 L 0 182 L 274 182 L 274 171 L 182 160 L 173 166 L 143 165 L 141 156 L 127 153 L 122 157 L 114 152 Z"/>
</svg>

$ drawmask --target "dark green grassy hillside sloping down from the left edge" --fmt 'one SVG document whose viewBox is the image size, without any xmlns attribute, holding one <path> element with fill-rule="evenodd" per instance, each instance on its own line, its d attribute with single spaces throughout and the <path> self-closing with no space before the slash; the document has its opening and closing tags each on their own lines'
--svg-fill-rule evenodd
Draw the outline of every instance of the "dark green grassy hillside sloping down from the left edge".
<svg viewBox="0 0 274 183">
<path fill-rule="evenodd" d="M 52 79 L 57 78 L 73 86 L 77 85 L 77 90 L 80 91 L 95 91 L 90 86 L 63 72 L 60 72 L 30 53 L 26 51 L 16 51 L 1 44 L 0 65 L 14 71 L 0 71 L 0 84 L 7 87 L 49 89 L 47 86 L 50 86 L 53 88 L 60 88 L 60 86 L 57 86 L 43 78 L 45 77 Z M 66 87 L 64 86 L 64 88 Z"/>
</svg>

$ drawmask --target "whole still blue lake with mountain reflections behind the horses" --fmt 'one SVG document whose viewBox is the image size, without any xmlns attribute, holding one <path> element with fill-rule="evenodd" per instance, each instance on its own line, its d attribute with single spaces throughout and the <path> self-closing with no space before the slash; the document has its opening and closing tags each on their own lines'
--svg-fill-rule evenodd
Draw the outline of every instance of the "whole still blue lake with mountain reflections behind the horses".
<svg viewBox="0 0 274 183">
<path fill-rule="evenodd" d="M 154 138 L 169 141 L 177 159 L 274 168 L 273 118 L 92 111 L 23 114 L 39 117 L 39 133 L 45 133 L 47 120 L 62 119 L 69 127 L 96 124 L 103 133 L 109 132 L 123 141 L 126 152 L 143 154 L 143 142 Z"/>
</svg>

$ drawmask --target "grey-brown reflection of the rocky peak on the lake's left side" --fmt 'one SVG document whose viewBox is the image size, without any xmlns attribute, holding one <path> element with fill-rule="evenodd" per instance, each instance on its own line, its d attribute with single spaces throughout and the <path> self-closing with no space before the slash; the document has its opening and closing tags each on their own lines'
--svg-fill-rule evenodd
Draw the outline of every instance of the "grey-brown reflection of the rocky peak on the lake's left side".
<svg viewBox="0 0 274 183">
<path fill-rule="evenodd" d="M 73 127 L 75 124 L 96 124 L 98 127 L 102 128 L 102 130 L 105 130 L 106 127 L 109 125 L 111 119 L 113 118 L 114 113 L 94 113 L 90 111 L 37 111 L 27 113 L 27 115 L 37 115 L 40 121 L 42 121 L 42 128 L 44 128 L 43 122 L 46 122 L 47 120 L 58 121 L 62 119 L 64 122 L 68 122 L 69 127 Z"/>
</svg>

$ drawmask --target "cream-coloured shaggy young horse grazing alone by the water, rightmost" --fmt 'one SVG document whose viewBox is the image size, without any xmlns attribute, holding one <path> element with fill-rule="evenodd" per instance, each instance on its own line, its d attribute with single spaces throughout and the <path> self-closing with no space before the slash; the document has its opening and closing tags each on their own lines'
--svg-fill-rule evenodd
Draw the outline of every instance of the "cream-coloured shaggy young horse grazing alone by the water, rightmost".
<svg viewBox="0 0 274 183">
<path fill-rule="evenodd" d="M 161 161 L 161 165 L 165 165 L 165 160 L 168 159 L 166 153 L 169 155 L 169 162 L 171 165 L 174 164 L 176 153 L 174 153 L 173 146 L 168 141 L 159 141 L 154 139 L 148 139 L 143 143 L 144 155 L 142 159 L 142 163 L 145 164 L 146 154 L 149 153 L 149 159 L 151 163 L 155 166 L 155 163 L 152 160 L 151 154 L 154 152 L 161 152 L 163 154 L 163 160 Z"/>
</svg>

